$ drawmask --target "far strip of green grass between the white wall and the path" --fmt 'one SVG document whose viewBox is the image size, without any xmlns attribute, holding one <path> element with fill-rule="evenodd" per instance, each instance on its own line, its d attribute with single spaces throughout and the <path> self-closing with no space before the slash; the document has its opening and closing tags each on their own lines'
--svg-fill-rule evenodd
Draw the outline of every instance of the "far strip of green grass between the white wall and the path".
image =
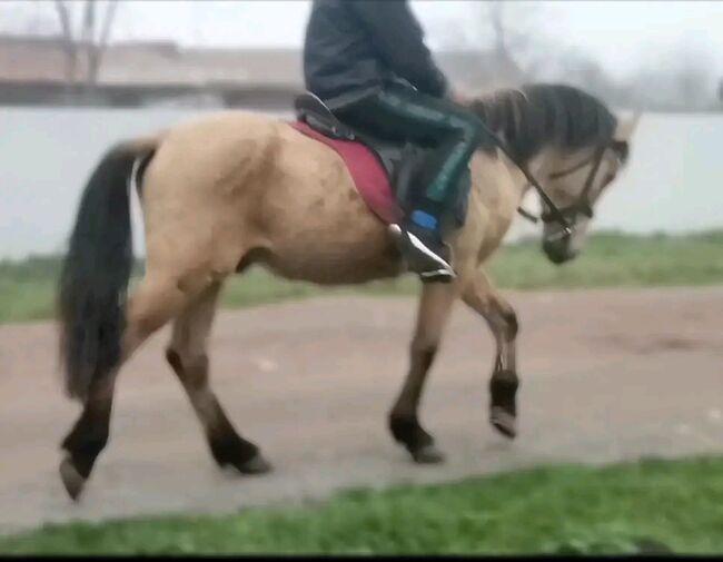
<svg viewBox="0 0 723 562">
<path fill-rule="evenodd" d="M 58 270 L 57 257 L 1 262 L 0 323 L 50 318 Z M 723 230 L 675 237 L 600 234 L 591 237 L 577 259 L 562 267 L 547 262 L 536 240 L 527 240 L 503 247 L 489 272 L 499 287 L 515 289 L 720 285 Z M 413 295 L 418 289 L 413 276 L 324 289 L 255 269 L 227 284 L 222 304 L 234 308 L 330 293 Z"/>
</svg>

